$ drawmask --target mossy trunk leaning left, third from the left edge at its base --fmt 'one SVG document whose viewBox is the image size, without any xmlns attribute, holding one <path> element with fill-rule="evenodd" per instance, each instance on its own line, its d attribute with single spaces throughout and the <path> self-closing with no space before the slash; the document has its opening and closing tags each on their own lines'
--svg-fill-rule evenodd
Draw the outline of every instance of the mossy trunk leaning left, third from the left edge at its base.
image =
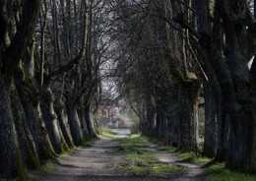
<svg viewBox="0 0 256 181">
<path fill-rule="evenodd" d="M 38 156 L 40 159 L 52 158 L 55 152 L 49 140 L 44 120 L 40 116 L 39 97 L 35 94 L 36 92 L 32 91 L 32 83 L 26 74 L 23 75 L 22 68 L 17 69 L 14 79 Z"/>
</svg>

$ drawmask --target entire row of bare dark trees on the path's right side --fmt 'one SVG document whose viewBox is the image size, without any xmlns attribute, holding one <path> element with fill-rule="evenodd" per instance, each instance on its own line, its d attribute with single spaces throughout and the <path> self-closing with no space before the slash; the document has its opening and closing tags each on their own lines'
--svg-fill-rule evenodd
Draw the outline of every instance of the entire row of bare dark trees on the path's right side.
<svg viewBox="0 0 256 181">
<path fill-rule="evenodd" d="M 109 6 L 118 52 L 113 74 L 142 133 L 255 173 L 254 1 L 117 0 Z"/>
</svg>

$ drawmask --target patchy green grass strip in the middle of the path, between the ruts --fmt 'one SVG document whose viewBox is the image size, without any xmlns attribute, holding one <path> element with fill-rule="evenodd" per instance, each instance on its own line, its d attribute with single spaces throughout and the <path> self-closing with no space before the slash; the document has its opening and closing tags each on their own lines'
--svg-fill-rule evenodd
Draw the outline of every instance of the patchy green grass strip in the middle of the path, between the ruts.
<svg viewBox="0 0 256 181">
<path fill-rule="evenodd" d="M 172 164 L 161 163 L 156 158 L 156 151 L 146 151 L 148 145 L 146 137 L 131 135 L 129 138 L 116 139 L 120 143 L 120 148 L 111 152 L 126 155 L 126 158 L 116 165 L 121 170 L 136 175 L 167 176 L 180 174 L 184 169 Z"/>
</svg>

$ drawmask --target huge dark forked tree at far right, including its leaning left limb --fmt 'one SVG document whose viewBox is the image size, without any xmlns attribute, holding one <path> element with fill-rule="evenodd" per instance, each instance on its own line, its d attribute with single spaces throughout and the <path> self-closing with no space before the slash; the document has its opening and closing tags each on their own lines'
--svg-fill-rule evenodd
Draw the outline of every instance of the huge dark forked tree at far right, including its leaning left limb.
<svg viewBox="0 0 256 181">
<path fill-rule="evenodd" d="M 255 48 L 248 30 L 254 24 L 246 1 L 216 1 L 213 29 L 208 20 L 208 4 L 196 1 L 200 46 L 205 63 L 210 63 L 220 84 L 225 124 L 229 123 L 227 167 L 255 171 L 255 110 L 251 103 L 247 61 Z M 239 20 L 246 20 L 247 28 Z M 221 24 L 221 22 L 223 22 Z M 223 26 L 223 27 L 222 27 Z M 222 29 L 224 28 L 224 29 Z M 223 30 L 225 38 L 221 33 Z M 253 31 L 255 33 L 255 30 Z M 222 45 L 225 40 L 223 60 Z M 252 51 L 253 50 L 253 51 Z M 209 62 L 208 62 L 209 61 Z M 226 65 L 227 66 L 226 66 Z M 209 65 L 209 64 L 208 64 Z M 223 129 L 223 128 L 222 128 Z"/>
</svg>

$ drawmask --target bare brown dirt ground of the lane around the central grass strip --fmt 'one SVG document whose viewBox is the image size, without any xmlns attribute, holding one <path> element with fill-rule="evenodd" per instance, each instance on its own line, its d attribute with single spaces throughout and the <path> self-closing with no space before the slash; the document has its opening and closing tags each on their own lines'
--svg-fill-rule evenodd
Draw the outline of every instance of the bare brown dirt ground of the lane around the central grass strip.
<svg viewBox="0 0 256 181">
<path fill-rule="evenodd" d="M 61 159 L 51 172 L 43 172 L 39 180 L 42 181 L 80 181 L 80 180 L 120 180 L 120 181 L 163 181 L 163 180 L 205 180 L 204 168 L 197 164 L 180 161 L 173 153 L 159 151 L 157 146 L 147 141 L 147 146 L 137 148 L 138 151 L 155 153 L 155 165 L 166 164 L 182 169 L 173 173 L 152 175 L 135 174 L 122 169 L 122 163 L 127 155 L 118 153 L 120 143 L 118 138 L 129 138 L 128 130 L 115 130 L 114 138 L 101 138 L 92 147 L 72 152 Z M 117 138 L 117 140 L 116 140 Z M 135 148 L 134 148 L 135 149 Z M 122 148 L 126 150 L 126 148 Z M 157 161 L 157 162 L 156 162 Z M 158 163 L 158 164 L 157 164 Z M 162 167 L 162 169 L 164 169 Z"/>
</svg>

